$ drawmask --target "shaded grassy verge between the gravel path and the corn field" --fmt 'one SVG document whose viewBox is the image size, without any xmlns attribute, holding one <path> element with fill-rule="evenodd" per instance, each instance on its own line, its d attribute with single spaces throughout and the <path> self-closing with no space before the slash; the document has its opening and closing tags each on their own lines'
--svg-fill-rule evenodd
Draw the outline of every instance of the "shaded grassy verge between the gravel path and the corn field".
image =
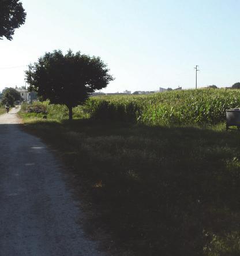
<svg viewBox="0 0 240 256">
<path fill-rule="evenodd" d="M 58 149 L 85 228 L 114 255 L 240 254 L 239 132 L 21 116 Z"/>
</svg>

